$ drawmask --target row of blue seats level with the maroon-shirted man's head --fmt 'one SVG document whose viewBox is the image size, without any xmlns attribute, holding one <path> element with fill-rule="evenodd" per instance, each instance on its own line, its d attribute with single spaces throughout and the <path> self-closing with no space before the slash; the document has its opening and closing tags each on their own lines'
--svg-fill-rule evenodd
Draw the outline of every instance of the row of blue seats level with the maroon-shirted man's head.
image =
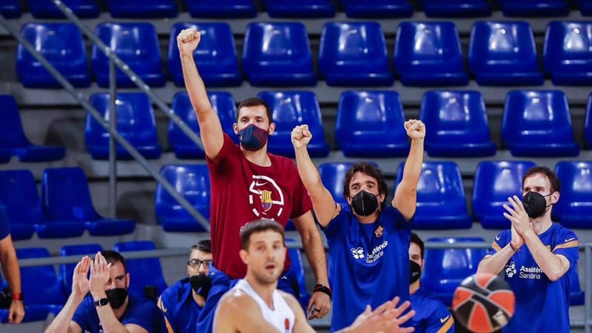
<svg viewBox="0 0 592 333">
<path fill-rule="evenodd" d="M 222 129 L 236 143 L 233 123 L 236 104 L 228 92 L 209 92 L 210 104 L 218 114 Z M 323 122 L 318 100 L 309 91 L 263 91 L 258 97 L 272 109 L 276 124 L 269 137 L 271 153 L 294 157 L 289 139 L 291 130 L 308 124 L 313 139 L 308 149 L 313 157 L 329 155 L 324 140 Z M 21 162 L 62 159 L 63 147 L 33 145 L 22 130 L 17 104 L 11 95 L 0 95 L 0 162 L 19 156 Z M 109 95 L 96 93 L 91 104 L 105 120 L 109 119 Z M 511 91 L 506 98 L 502 121 L 504 148 L 514 156 L 578 156 L 580 146 L 574 141 L 570 108 L 561 91 Z M 195 132 L 200 126 L 186 92 L 178 92 L 172 110 Z M 424 94 L 419 118 L 426 123 L 425 148 L 435 157 L 492 156 L 496 145 L 491 142 L 487 110 L 477 91 L 428 91 Z M 397 92 L 345 91 L 339 99 L 336 121 L 337 147 L 347 157 L 401 157 L 409 151 L 403 123 L 406 117 Z M 155 113 L 143 93 L 117 94 L 117 128 L 145 158 L 160 158 Z M 109 133 L 90 114 L 85 125 L 86 148 L 94 159 L 108 159 Z M 584 139 L 592 147 L 592 94 L 584 121 Z M 202 159 L 204 152 L 169 121 L 168 143 L 179 159 Z M 132 159 L 117 146 L 118 159 Z"/>
</svg>

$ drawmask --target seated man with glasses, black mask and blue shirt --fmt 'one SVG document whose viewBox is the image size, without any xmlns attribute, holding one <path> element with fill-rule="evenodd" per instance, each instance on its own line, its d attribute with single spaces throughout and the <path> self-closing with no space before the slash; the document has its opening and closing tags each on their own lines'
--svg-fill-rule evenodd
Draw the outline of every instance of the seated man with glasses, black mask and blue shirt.
<svg viewBox="0 0 592 333">
<path fill-rule="evenodd" d="M 212 262 L 210 240 L 191 246 L 187 261 L 189 277 L 168 287 L 158 300 L 165 315 L 166 328 L 171 332 L 197 332 L 197 318 L 204 308 L 210 291 L 208 268 Z"/>
</svg>

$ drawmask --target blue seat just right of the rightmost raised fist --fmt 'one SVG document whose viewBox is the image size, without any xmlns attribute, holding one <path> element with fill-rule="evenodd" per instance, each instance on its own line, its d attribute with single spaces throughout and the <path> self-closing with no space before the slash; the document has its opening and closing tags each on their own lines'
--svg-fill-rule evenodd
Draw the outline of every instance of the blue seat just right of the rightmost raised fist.
<svg viewBox="0 0 592 333">
<path fill-rule="evenodd" d="M 485 102 L 478 91 L 427 91 L 419 117 L 426 124 L 430 156 L 478 157 L 496 153 Z"/>
</svg>

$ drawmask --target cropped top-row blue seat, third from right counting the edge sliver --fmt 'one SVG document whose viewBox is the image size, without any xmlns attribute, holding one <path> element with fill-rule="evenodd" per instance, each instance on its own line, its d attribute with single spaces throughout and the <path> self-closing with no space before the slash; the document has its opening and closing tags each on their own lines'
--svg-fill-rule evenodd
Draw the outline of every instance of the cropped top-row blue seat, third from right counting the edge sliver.
<svg viewBox="0 0 592 333">
<path fill-rule="evenodd" d="M 421 0 L 427 17 L 483 17 L 491 15 L 487 0 Z"/>
</svg>

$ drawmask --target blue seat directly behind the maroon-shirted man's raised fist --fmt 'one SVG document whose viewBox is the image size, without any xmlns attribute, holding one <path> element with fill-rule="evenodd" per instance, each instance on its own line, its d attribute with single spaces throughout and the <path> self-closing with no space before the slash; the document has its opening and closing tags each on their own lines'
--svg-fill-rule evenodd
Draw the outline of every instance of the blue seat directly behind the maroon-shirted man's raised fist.
<svg viewBox="0 0 592 333">
<path fill-rule="evenodd" d="M 178 87 L 185 87 L 177 36 L 183 29 L 201 32 L 200 44 L 193 52 L 195 65 L 207 87 L 240 85 L 242 76 L 234 49 L 234 37 L 227 23 L 177 23 L 170 29 L 168 71 Z"/>
</svg>

